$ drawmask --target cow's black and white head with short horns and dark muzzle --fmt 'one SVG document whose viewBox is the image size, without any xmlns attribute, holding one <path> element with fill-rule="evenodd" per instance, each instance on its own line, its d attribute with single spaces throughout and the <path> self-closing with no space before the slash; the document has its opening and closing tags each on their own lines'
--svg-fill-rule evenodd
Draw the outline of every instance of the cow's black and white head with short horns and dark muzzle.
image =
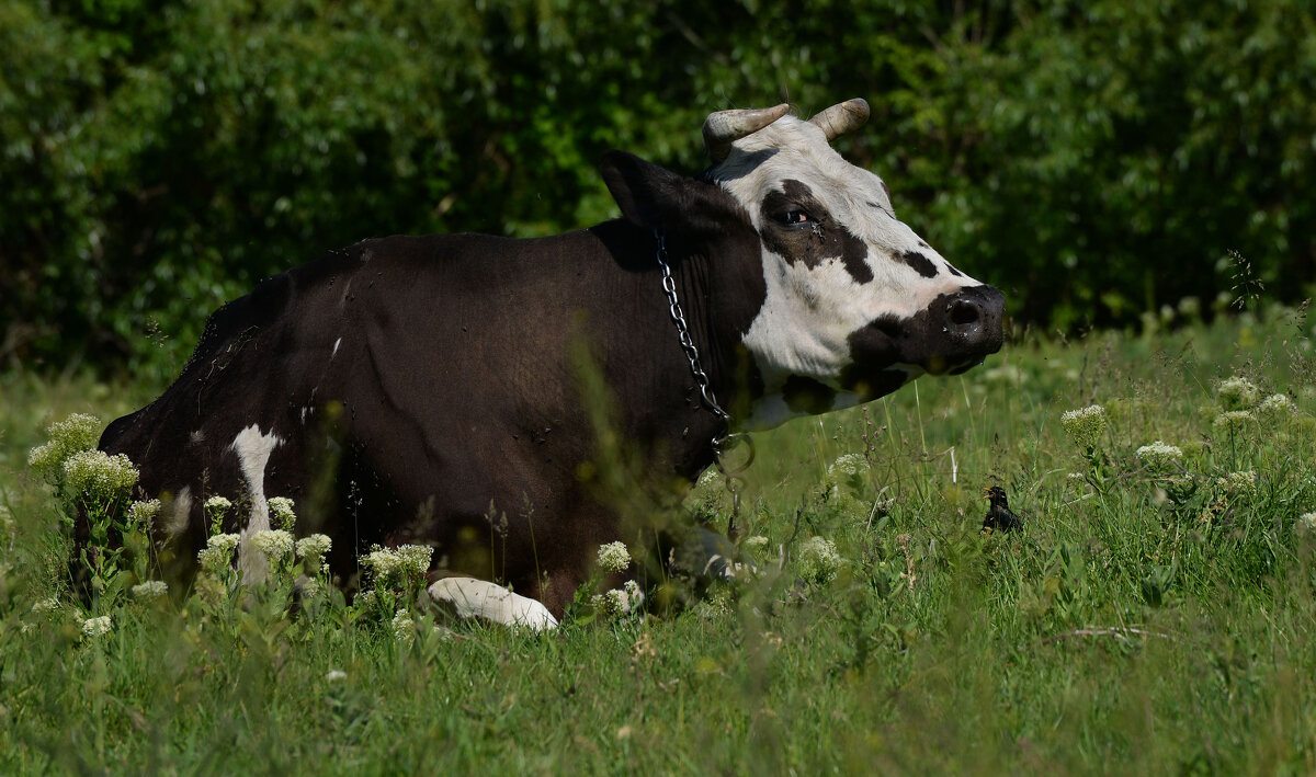
<svg viewBox="0 0 1316 777">
<path fill-rule="evenodd" d="M 759 243 L 766 293 L 741 339 L 766 390 L 749 426 L 867 401 L 924 372 L 955 375 L 1000 350 L 1004 296 L 929 247 L 896 218 L 882 179 L 829 146 L 867 116 L 850 100 L 809 121 L 778 105 L 704 124 L 713 166 L 703 177 L 734 200 Z M 629 218 L 674 222 L 653 191 L 642 213 L 628 185 L 637 176 L 616 162 L 604 175 Z M 690 191 L 684 208 L 669 208 L 690 218 L 691 200 L 719 210 L 716 197 Z"/>
</svg>

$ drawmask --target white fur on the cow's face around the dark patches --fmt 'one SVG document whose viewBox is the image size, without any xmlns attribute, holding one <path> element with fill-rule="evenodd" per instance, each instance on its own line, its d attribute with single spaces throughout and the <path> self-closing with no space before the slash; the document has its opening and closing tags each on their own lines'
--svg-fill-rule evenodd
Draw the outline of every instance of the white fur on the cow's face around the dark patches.
<svg viewBox="0 0 1316 777">
<path fill-rule="evenodd" d="M 769 193 L 783 191 L 782 181 L 805 184 L 832 220 L 865 242 L 873 271 L 873 280 L 861 284 L 840 256 L 809 268 L 762 248 L 767 297 L 744 342 L 754 355 L 769 398 L 763 408 L 755 408 L 751 426 L 799 415 L 772 397 L 791 375 L 812 377 L 845 394 L 837 379 L 851 363 L 848 338 L 871 321 L 909 317 L 940 294 L 980 285 L 946 270 L 923 277 L 900 260 L 901 252 L 917 251 L 938 268 L 949 264 L 937 251 L 921 246 L 919 235 L 895 217 L 882 179 L 842 159 L 822 130 L 807 121 L 784 116 L 736 141 L 726 160 L 712 170 L 712 177 L 744 205 L 755 229 L 763 226 L 761 202 Z M 917 365 L 899 368 L 907 380 L 923 373 Z M 857 397 L 845 394 L 837 401 L 837 406 L 848 406 Z"/>
</svg>

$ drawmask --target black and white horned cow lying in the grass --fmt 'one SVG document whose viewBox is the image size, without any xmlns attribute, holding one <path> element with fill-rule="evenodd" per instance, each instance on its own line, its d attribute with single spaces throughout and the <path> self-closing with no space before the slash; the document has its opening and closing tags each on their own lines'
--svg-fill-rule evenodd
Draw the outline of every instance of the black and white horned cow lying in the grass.
<svg viewBox="0 0 1316 777">
<path fill-rule="evenodd" d="M 242 532 L 241 578 L 259 581 L 247 538 L 290 497 L 349 589 L 368 547 L 429 544 L 436 601 L 554 627 L 597 548 L 622 539 L 591 477 L 617 455 L 603 440 L 688 488 L 732 431 L 1000 350 L 1003 294 L 830 147 L 867 114 L 863 100 L 807 121 L 721 110 L 700 175 L 603 156 L 620 218 L 534 239 L 366 239 L 268 277 L 209 317 L 175 383 L 100 448 L 166 498 L 153 542 L 175 559 L 205 546 L 203 501 L 234 497 L 225 530 Z"/>
</svg>

